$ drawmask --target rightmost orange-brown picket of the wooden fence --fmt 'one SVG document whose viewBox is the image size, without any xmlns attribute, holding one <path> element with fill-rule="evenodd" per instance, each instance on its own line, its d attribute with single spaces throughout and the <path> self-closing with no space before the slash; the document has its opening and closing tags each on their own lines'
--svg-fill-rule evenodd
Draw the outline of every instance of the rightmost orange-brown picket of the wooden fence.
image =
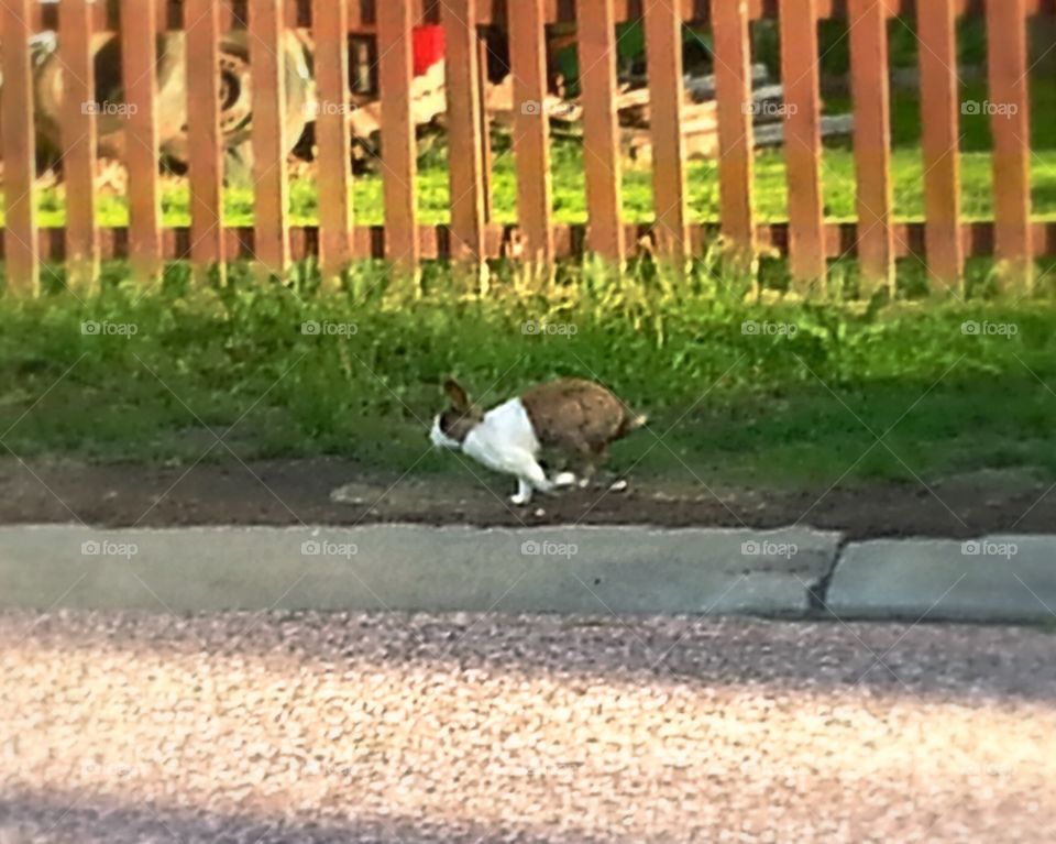
<svg viewBox="0 0 1056 844">
<path fill-rule="evenodd" d="M 993 109 L 993 190 L 997 253 L 1010 281 L 1028 285 L 1031 243 L 1031 121 L 1025 0 L 987 3 L 990 105 Z"/>
</svg>

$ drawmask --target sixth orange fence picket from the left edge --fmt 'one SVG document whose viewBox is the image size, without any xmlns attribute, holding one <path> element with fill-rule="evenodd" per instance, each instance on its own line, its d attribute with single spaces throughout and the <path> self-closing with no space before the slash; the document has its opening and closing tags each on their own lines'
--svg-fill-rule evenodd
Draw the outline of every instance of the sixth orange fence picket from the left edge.
<svg viewBox="0 0 1056 844">
<path fill-rule="evenodd" d="M 319 112 L 320 264 L 334 278 L 351 260 L 352 132 L 349 127 L 349 7 L 346 0 L 315 0 L 316 84 Z"/>
</svg>

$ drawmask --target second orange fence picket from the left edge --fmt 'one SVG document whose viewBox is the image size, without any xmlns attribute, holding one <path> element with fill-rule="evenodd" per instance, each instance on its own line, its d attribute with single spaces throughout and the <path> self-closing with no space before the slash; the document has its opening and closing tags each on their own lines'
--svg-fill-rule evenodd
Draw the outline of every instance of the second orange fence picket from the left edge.
<svg viewBox="0 0 1056 844">
<path fill-rule="evenodd" d="M 66 184 L 66 277 L 75 288 L 99 274 L 96 226 L 96 68 L 91 52 L 92 7 L 63 0 L 58 48 L 63 63 L 63 180 Z"/>
</svg>

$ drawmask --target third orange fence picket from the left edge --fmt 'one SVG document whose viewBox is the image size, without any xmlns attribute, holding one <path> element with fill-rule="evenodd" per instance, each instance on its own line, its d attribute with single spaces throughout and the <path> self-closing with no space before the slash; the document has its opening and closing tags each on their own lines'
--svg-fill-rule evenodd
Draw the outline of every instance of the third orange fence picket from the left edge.
<svg viewBox="0 0 1056 844">
<path fill-rule="evenodd" d="M 129 259 L 133 275 L 156 279 L 162 271 L 158 189 L 157 15 L 155 0 L 121 0 L 121 72 L 129 171 Z"/>
</svg>

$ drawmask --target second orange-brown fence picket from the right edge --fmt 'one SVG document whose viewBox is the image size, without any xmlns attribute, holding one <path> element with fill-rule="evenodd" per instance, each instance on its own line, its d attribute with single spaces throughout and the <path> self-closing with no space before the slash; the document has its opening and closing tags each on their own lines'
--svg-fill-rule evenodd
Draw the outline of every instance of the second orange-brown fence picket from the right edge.
<svg viewBox="0 0 1056 844">
<path fill-rule="evenodd" d="M 947 288 L 960 285 L 964 267 L 955 11 L 955 0 L 928 0 L 917 9 L 927 266 Z"/>
</svg>

